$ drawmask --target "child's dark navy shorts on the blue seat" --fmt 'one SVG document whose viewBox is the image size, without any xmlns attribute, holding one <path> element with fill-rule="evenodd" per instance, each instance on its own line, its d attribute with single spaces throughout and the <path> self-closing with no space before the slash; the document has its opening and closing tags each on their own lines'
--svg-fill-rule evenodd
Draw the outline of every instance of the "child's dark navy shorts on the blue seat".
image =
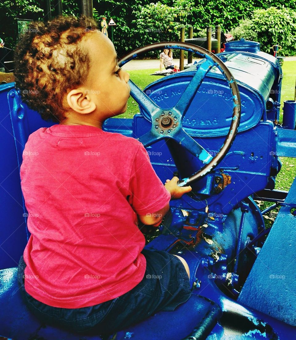
<svg viewBox="0 0 296 340">
<path fill-rule="evenodd" d="M 69 331 L 107 336 L 157 311 L 174 310 L 191 295 L 182 262 L 164 251 L 143 250 L 147 261 L 143 280 L 129 292 L 110 301 L 83 308 L 57 308 L 35 300 L 24 289 L 26 263 L 21 257 L 18 282 L 28 309 L 40 322 Z"/>
</svg>

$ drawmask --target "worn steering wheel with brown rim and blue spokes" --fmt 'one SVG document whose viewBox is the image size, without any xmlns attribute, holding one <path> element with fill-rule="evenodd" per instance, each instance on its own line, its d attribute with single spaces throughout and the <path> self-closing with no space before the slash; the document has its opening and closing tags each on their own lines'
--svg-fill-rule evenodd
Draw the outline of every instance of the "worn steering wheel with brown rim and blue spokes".
<svg viewBox="0 0 296 340">
<path fill-rule="evenodd" d="M 182 187 L 190 185 L 192 182 L 201 179 L 203 176 L 213 171 L 213 169 L 226 156 L 240 124 L 241 98 L 235 79 L 225 64 L 210 51 L 192 44 L 177 41 L 163 41 L 161 43 L 147 45 L 125 55 L 120 59 L 119 66 L 123 66 L 127 62 L 136 58 L 139 54 L 155 49 L 162 49 L 164 47 L 186 50 L 199 54 L 202 58 L 205 58 L 203 63 L 198 64 L 199 68 L 197 72 L 187 85 L 177 104 L 170 109 L 163 109 L 154 103 L 131 80 L 129 80 L 129 85 L 131 87 L 132 98 L 138 103 L 139 107 L 143 109 L 145 118 L 151 122 L 151 130 L 138 138 L 144 147 L 147 147 L 163 138 L 172 138 L 180 145 L 183 145 L 186 150 L 200 159 L 204 164 L 198 172 L 194 173 L 189 178 L 185 178 L 178 182 L 178 185 Z M 197 141 L 189 136 L 182 127 L 182 119 L 187 112 L 188 107 L 190 106 L 205 76 L 213 66 L 216 66 L 227 80 L 233 98 L 233 115 L 230 128 L 223 145 L 214 157 L 212 157 Z"/>
</svg>

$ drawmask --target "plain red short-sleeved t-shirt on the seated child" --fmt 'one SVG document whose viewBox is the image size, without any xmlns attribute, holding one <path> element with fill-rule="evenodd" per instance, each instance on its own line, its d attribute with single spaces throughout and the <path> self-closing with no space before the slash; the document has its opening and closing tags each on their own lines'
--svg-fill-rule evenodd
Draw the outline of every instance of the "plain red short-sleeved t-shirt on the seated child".
<svg viewBox="0 0 296 340">
<path fill-rule="evenodd" d="M 29 136 L 20 176 L 31 296 L 80 308 L 141 282 L 145 238 L 136 214 L 163 208 L 170 194 L 139 141 L 88 125 L 42 128 Z"/>
</svg>

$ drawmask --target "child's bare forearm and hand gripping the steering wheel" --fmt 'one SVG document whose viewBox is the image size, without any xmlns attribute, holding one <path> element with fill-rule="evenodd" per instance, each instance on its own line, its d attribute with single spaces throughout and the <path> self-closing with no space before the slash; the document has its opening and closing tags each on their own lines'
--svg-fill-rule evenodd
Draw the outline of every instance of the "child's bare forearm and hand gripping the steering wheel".
<svg viewBox="0 0 296 340">
<path fill-rule="evenodd" d="M 166 180 L 164 187 L 170 193 L 171 199 L 181 198 L 186 192 L 192 190 L 191 186 L 179 187 L 178 177 L 174 176 L 171 180 Z M 169 210 L 169 203 L 162 209 L 155 211 L 153 214 L 138 215 L 139 220 L 145 225 L 158 226 Z"/>
</svg>

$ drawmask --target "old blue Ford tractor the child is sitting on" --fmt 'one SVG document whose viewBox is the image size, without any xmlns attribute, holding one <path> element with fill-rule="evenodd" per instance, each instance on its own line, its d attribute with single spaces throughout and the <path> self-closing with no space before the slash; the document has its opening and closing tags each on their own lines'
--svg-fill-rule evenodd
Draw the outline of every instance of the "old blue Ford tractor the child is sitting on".
<svg viewBox="0 0 296 340">
<path fill-rule="evenodd" d="M 139 139 L 163 183 L 177 175 L 180 186 L 192 186 L 171 201 L 146 245 L 186 259 L 192 296 L 109 339 L 296 339 L 296 180 L 289 192 L 274 190 L 278 156 L 296 157 L 296 102 L 285 103 L 279 125 L 279 61 L 241 40 L 218 55 L 191 44 L 152 44 L 121 65 L 164 46 L 202 59 L 144 91 L 130 81 L 139 114 L 110 118 L 103 129 Z M 19 168 L 28 136 L 52 123 L 22 103 L 14 83 L 0 86 L 0 98 L 1 339 L 99 340 L 40 324 L 21 300 L 16 266 L 29 232 Z M 280 206 L 272 228 L 254 200 L 274 202 L 264 213 Z"/>
</svg>

